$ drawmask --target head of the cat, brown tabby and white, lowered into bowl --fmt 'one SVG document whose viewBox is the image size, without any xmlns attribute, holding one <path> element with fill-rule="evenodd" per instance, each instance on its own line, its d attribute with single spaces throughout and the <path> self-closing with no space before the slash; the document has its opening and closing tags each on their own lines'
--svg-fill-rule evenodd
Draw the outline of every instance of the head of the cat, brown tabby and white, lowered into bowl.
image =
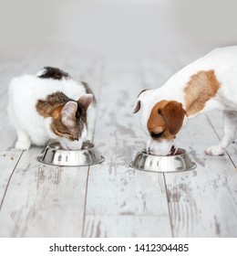
<svg viewBox="0 0 237 256">
<path fill-rule="evenodd" d="M 78 101 L 68 101 L 67 96 L 57 92 L 38 101 L 37 112 L 48 119 L 49 133 L 65 149 L 78 150 L 88 135 L 87 111 L 93 101 L 92 94 L 81 96 Z"/>
</svg>

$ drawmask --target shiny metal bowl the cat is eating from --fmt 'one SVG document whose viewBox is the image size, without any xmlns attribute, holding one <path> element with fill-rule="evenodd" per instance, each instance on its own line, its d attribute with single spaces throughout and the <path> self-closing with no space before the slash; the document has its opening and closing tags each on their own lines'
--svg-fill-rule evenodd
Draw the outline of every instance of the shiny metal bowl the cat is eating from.
<svg viewBox="0 0 237 256">
<path fill-rule="evenodd" d="M 59 166 L 98 165 L 104 160 L 94 145 L 88 142 L 82 145 L 81 150 L 64 150 L 59 143 L 51 143 L 46 146 L 43 155 L 38 157 L 38 161 L 43 164 Z"/>
</svg>

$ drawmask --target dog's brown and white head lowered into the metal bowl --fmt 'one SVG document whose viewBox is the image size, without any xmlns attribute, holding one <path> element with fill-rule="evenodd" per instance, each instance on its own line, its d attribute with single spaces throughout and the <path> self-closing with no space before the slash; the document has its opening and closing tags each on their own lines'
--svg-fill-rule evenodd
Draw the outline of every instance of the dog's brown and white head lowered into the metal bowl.
<svg viewBox="0 0 237 256">
<path fill-rule="evenodd" d="M 147 152 L 152 155 L 175 155 L 177 151 L 185 111 L 180 102 L 166 99 L 161 91 L 144 90 L 133 108 L 133 113 L 141 111 L 140 124 L 148 136 Z"/>
</svg>

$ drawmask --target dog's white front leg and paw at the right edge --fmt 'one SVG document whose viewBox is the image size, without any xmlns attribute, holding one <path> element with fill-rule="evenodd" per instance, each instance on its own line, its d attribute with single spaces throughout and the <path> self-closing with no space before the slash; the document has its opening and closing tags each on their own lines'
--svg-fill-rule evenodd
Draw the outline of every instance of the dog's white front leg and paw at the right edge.
<svg viewBox="0 0 237 256">
<path fill-rule="evenodd" d="M 214 145 L 206 149 L 207 155 L 224 155 L 226 148 L 234 140 L 237 126 L 237 112 L 223 111 L 223 137 L 218 145 Z"/>
</svg>

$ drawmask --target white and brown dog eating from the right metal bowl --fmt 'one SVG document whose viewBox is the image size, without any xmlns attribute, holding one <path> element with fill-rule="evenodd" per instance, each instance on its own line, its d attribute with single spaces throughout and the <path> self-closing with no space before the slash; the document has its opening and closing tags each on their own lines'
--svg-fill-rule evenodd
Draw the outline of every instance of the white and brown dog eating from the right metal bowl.
<svg viewBox="0 0 237 256">
<path fill-rule="evenodd" d="M 163 86 L 139 93 L 133 112 L 141 110 L 141 127 L 152 155 L 174 155 L 180 129 L 189 118 L 223 111 L 222 141 L 206 149 L 223 155 L 237 127 L 237 47 L 217 48 L 173 75 Z"/>
</svg>

